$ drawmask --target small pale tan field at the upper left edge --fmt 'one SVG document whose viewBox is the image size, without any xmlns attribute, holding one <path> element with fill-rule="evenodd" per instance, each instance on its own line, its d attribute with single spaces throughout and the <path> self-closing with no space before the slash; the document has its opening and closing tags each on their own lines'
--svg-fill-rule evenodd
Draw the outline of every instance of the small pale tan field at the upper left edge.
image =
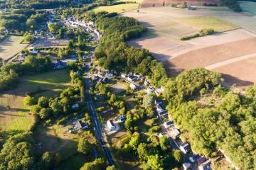
<svg viewBox="0 0 256 170">
<path fill-rule="evenodd" d="M 21 44 L 22 40 L 22 36 L 8 36 L 0 43 L 0 57 L 3 60 L 8 60 L 10 57 L 14 57 L 14 55 L 28 46 L 28 44 Z"/>
</svg>

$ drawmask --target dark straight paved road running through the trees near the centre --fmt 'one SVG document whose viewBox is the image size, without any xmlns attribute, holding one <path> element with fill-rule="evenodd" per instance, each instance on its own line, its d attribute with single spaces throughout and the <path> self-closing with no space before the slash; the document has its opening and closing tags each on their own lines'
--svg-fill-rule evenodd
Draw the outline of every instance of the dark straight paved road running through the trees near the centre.
<svg viewBox="0 0 256 170">
<path fill-rule="evenodd" d="M 89 69 L 87 69 L 87 73 L 88 72 L 89 72 Z M 102 132 L 102 126 L 100 125 L 100 120 L 97 118 L 96 109 L 95 109 L 94 103 L 92 102 L 92 96 L 90 94 L 90 78 L 88 77 L 88 74 L 85 79 L 85 94 L 87 96 L 89 110 L 92 115 L 93 123 L 95 125 L 95 136 L 96 136 L 97 140 L 100 142 L 102 150 L 105 153 L 105 156 L 107 158 L 108 164 L 113 165 L 114 161 L 112 159 L 110 151 L 107 149 L 107 147 L 105 145 L 104 138 L 103 138 L 103 132 Z"/>
</svg>

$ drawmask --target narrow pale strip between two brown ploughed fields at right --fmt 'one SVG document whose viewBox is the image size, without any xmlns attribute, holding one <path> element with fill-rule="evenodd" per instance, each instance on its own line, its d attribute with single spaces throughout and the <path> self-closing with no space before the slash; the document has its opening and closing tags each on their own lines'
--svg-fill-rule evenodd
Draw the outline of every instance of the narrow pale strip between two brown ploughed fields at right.
<svg viewBox="0 0 256 170">
<path fill-rule="evenodd" d="M 240 57 L 235 57 L 235 58 L 232 58 L 232 59 L 224 60 L 222 62 L 217 62 L 215 64 L 210 64 L 210 65 L 206 66 L 205 68 L 206 69 L 216 69 L 218 67 L 222 67 L 224 65 L 231 64 L 233 62 L 239 62 L 239 61 L 242 61 L 242 60 L 250 59 L 252 57 L 256 57 L 256 53 L 252 53 L 250 55 L 243 55 L 243 56 L 240 56 Z"/>
</svg>

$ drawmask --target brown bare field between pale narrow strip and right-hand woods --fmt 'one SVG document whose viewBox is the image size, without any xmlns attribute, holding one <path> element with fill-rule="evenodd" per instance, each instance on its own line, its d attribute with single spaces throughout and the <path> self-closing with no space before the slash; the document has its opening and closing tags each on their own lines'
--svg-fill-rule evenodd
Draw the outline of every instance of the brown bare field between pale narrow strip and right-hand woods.
<svg viewBox="0 0 256 170">
<path fill-rule="evenodd" d="M 256 83 L 256 54 L 250 59 L 225 64 L 213 70 L 222 73 L 228 85 L 236 84 L 240 88 L 252 86 Z"/>
</svg>

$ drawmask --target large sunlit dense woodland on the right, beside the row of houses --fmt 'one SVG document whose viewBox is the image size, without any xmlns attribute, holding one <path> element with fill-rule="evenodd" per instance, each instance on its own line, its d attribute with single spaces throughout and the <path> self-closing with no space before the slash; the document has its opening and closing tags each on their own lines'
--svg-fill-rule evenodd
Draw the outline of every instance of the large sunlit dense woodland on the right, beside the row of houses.
<svg viewBox="0 0 256 170">
<path fill-rule="evenodd" d="M 169 80 L 164 91 L 169 114 L 188 132 L 194 151 L 214 157 L 220 149 L 240 169 L 255 169 L 256 86 L 240 96 L 220 81 L 220 74 L 201 68 Z M 211 96 L 212 103 L 198 102 L 203 96 Z"/>
</svg>

